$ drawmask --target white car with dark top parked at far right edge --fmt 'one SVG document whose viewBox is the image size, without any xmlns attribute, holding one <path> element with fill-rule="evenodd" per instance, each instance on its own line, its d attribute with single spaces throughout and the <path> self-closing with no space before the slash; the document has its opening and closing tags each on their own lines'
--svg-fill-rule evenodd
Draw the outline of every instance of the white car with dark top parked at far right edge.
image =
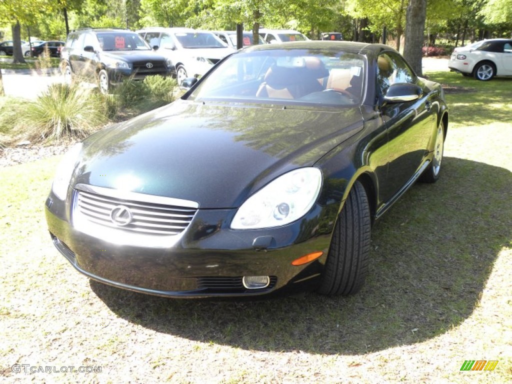
<svg viewBox="0 0 512 384">
<path fill-rule="evenodd" d="M 448 68 L 483 81 L 512 76 L 512 39 L 487 39 L 476 48 L 459 48 L 452 52 Z"/>
</svg>

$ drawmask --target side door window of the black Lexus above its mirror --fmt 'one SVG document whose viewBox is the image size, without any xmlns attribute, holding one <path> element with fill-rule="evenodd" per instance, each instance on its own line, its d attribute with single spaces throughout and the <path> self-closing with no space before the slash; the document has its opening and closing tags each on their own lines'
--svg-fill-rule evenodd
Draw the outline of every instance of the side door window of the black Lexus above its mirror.
<svg viewBox="0 0 512 384">
<path fill-rule="evenodd" d="M 392 84 L 415 82 L 415 76 L 399 55 L 387 52 L 380 54 L 377 59 L 377 82 L 385 95 Z"/>
</svg>

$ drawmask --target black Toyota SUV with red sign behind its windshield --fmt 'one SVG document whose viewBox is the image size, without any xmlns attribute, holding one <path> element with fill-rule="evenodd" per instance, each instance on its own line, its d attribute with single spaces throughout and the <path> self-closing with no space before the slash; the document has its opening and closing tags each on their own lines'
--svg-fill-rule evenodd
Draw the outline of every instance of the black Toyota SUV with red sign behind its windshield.
<svg viewBox="0 0 512 384">
<path fill-rule="evenodd" d="M 168 76 L 172 63 L 137 33 L 125 29 L 84 28 L 71 32 L 62 48 L 61 67 L 68 83 L 74 75 L 97 81 L 102 93 L 126 77 Z"/>
</svg>

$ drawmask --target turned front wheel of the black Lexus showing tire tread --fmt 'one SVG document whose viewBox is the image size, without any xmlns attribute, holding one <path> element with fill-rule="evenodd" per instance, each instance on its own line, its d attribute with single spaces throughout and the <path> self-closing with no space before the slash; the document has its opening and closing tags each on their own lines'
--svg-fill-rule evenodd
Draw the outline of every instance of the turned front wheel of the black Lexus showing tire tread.
<svg viewBox="0 0 512 384">
<path fill-rule="evenodd" d="M 348 295 L 362 287 L 368 273 L 370 233 L 368 197 L 356 181 L 334 228 L 319 293 Z"/>
</svg>

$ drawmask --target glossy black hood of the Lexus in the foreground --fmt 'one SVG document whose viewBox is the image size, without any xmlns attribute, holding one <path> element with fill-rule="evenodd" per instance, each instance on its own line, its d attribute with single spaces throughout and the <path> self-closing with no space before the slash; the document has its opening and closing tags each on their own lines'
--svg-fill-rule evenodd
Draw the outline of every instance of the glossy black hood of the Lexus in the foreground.
<svg viewBox="0 0 512 384">
<path fill-rule="evenodd" d="M 358 107 L 177 100 L 92 135 L 78 183 L 235 208 L 288 170 L 311 166 L 362 129 Z"/>
</svg>

